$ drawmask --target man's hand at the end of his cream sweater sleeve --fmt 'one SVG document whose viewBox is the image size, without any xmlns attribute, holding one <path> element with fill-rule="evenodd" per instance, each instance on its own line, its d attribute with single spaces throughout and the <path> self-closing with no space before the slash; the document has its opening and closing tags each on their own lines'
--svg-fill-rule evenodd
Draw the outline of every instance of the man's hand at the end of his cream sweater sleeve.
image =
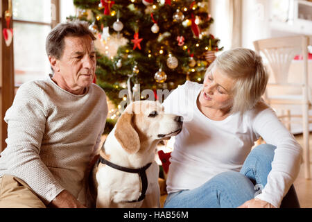
<svg viewBox="0 0 312 222">
<path fill-rule="evenodd" d="M 48 207 L 53 208 L 86 208 L 69 191 L 64 189 L 56 196 Z"/>
</svg>

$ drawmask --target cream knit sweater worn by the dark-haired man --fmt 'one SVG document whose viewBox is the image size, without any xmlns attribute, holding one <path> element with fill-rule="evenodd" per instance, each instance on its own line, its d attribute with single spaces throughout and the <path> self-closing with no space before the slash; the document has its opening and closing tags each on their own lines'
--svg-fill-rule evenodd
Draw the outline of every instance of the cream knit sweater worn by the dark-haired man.
<svg viewBox="0 0 312 222">
<path fill-rule="evenodd" d="M 83 95 L 58 87 L 51 75 L 21 85 L 4 118 L 8 138 L 0 176 L 24 180 L 45 204 L 63 189 L 85 203 L 85 170 L 98 151 L 106 117 L 106 96 L 98 85 Z"/>
</svg>

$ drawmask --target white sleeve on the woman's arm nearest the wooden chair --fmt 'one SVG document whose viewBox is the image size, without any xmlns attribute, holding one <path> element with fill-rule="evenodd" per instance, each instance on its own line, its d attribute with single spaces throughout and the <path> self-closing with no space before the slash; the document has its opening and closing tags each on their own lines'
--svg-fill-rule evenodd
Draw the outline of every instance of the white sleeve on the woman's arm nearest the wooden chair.
<svg viewBox="0 0 312 222">
<path fill-rule="evenodd" d="M 271 108 L 266 107 L 256 114 L 252 124 L 267 144 L 277 147 L 267 184 L 257 198 L 279 207 L 300 171 L 302 148 Z"/>
</svg>

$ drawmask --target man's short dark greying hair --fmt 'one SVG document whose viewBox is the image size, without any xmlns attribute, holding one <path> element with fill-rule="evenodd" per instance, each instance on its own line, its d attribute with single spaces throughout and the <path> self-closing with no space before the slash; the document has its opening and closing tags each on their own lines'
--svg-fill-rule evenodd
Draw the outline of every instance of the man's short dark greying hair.
<svg viewBox="0 0 312 222">
<path fill-rule="evenodd" d="M 64 37 L 67 36 L 83 37 L 89 35 L 92 40 L 96 40 L 88 27 L 88 22 L 80 20 L 58 24 L 46 37 L 46 54 L 60 59 L 64 51 Z"/>
</svg>

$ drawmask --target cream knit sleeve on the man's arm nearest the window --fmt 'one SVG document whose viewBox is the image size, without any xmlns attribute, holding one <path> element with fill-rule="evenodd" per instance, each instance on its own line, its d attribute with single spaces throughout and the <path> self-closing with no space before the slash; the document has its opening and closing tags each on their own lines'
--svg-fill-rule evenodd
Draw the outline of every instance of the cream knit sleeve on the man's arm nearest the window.
<svg viewBox="0 0 312 222">
<path fill-rule="evenodd" d="M 36 87 L 20 87 L 12 106 L 6 112 L 7 147 L 3 151 L 6 168 L 12 176 L 24 180 L 45 204 L 64 188 L 53 178 L 40 159 L 40 148 L 46 117 L 43 100 Z"/>
</svg>

